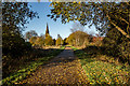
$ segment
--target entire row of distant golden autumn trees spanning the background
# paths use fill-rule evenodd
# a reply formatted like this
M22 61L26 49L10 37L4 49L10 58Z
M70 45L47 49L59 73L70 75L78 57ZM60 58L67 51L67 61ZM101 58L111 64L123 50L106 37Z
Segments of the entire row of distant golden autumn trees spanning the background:
M49 34L49 30L48 33L41 35L38 35L35 30L27 31L25 33L25 40L28 41L32 46L41 48L44 46L60 46L66 44L84 47L90 43L101 45L103 37L100 37L99 34L96 34L96 37L93 37L92 34L88 34L83 30L84 27L82 25L80 25L79 23L75 23L73 25L73 28L70 28L72 33L68 35L68 38L65 38L64 40L60 34L57 34L56 40L52 39L52 37Z

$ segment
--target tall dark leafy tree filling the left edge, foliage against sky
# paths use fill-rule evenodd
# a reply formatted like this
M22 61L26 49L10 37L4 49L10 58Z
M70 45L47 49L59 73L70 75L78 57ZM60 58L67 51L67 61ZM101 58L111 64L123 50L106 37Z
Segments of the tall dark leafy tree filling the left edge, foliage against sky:
M22 54L26 43L22 31L30 19L38 17L27 2L2 2L2 48L3 54Z

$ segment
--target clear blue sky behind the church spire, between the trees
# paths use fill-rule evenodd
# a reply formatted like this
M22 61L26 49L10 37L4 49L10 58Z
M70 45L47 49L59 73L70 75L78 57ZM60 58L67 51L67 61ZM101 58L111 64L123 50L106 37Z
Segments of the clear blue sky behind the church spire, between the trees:
M56 39L57 34L65 39L72 33L70 28L74 24L73 22L68 24L62 24L61 19L54 22L50 17L47 17L47 15L51 13L51 6L49 6L50 2L29 2L29 4L32 6L31 9L38 13L39 18L34 18L32 20L30 20L23 34L30 30L35 30L39 35L41 33L44 34L47 23L49 25L50 35L52 35L53 39ZM88 33L98 33L93 26L91 27L91 29L86 26L86 31Z

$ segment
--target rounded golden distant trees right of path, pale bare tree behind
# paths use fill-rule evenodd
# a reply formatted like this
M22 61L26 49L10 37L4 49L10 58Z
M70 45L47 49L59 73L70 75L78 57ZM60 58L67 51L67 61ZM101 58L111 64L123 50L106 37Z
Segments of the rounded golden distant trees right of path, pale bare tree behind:
M93 34L90 34L84 31L84 27L79 24L75 23L73 25L73 28L70 28L72 33L66 39L66 43L74 46L88 46L89 44L95 44L100 46L102 44L103 37L100 37L96 34L95 37Z

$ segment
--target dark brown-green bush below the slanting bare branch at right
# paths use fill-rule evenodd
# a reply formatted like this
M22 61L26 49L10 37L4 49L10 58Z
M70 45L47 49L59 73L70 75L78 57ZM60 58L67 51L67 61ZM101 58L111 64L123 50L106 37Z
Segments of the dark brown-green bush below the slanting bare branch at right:
M118 58L121 62L130 61L130 42L117 29L110 29L103 40L107 55Z

